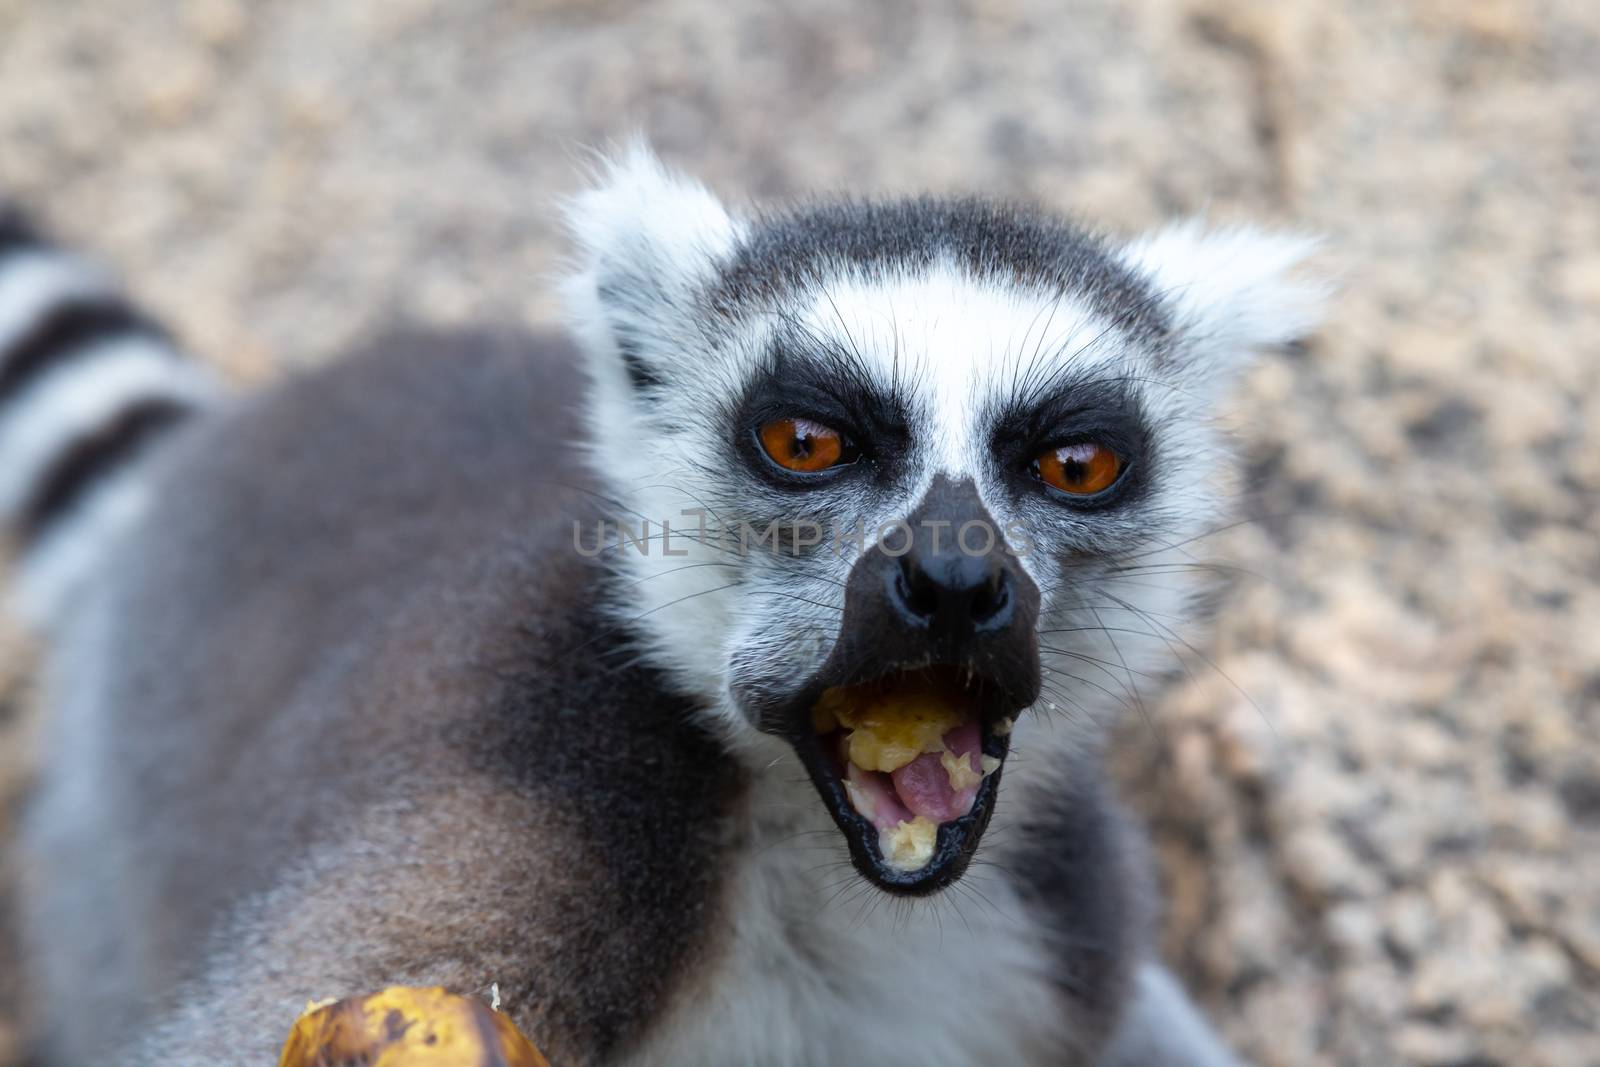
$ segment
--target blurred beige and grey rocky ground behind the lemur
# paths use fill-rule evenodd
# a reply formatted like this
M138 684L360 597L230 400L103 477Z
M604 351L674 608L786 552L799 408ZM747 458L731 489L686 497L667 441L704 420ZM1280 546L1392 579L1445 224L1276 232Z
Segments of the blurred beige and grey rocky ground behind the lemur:
M1600 6L0 0L0 189L250 381L549 318L573 146L635 125L734 195L1328 234L1123 744L1168 950L1264 1065L1600 1064Z

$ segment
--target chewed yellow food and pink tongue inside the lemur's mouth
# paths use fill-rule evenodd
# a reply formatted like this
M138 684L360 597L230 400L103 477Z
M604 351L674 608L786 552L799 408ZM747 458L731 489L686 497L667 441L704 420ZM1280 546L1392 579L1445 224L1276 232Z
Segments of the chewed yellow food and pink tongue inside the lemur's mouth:
M877 830L883 862L917 872L939 827L968 816L1000 758L950 672L914 672L824 689L811 707L824 758L856 814Z

